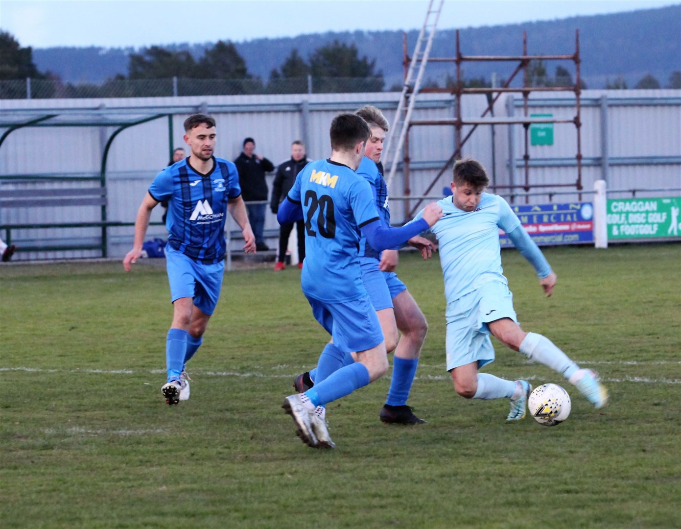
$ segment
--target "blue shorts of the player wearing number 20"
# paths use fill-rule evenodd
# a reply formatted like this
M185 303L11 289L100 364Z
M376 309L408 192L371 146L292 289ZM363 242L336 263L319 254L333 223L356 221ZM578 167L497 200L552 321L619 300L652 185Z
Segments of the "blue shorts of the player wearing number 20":
M321 327L343 352L361 352L383 342L383 331L368 296L343 303L328 303L307 297Z

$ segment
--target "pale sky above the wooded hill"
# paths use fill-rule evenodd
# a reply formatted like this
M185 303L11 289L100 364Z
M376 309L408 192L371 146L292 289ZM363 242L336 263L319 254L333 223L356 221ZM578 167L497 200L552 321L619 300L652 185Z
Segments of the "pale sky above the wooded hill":
M439 0L434 1L437 5ZM681 0L445 0L438 29L633 11ZM421 29L428 0L0 0L21 46L151 46Z

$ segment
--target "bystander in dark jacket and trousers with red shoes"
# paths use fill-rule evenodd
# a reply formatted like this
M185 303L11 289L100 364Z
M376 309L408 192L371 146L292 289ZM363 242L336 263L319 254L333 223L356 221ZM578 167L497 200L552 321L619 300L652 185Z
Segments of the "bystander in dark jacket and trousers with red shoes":
M293 187L298 173L308 162L310 160L305 155L305 144L300 140L291 143L291 160L287 160L279 165L279 168L276 170L276 177L274 177L274 183L272 184L270 209L274 215L279 211L279 204L286 198L291 187ZM296 231L298 232L298 268L302 269L302 260L305 258L305 223L299 220L298 222L282 224L279 227L279 257L274 265L274 271L278 272L286 268L286 249L289 245L289 237L294 224L296 224Z

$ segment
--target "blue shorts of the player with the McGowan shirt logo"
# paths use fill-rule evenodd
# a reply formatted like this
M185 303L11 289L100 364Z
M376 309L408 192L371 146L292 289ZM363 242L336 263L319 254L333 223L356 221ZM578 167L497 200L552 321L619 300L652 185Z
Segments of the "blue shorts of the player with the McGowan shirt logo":
M225 275L224 261L203 264L167 245L165 269L168 271L171 302L182 297L191 297L194 305L204 314L210 316L215 312Z

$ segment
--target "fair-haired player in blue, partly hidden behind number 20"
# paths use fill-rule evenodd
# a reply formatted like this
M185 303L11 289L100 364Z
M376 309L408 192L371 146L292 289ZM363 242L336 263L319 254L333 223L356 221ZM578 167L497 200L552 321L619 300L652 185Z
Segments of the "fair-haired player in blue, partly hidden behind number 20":
M376 209L381 215L381 222L390 226L387 185L383 179L383 166L380 161L389 123L381 110L372 105L363 106L355 114L364 119L371 130L364 157L356 172L369 183L374 194ZM423 237L415 239L426 250L424 258L430 257L434 245ZM397 249L377 252L366 241L366 237L362 237L359 255L362 282L381 322L385 349L387 352L394 351L390 389L379 417L383 423L387 424L425 423L426 421L416 417L412 408L407 406L407 399L416 374L421 348L428 332L426 317L407 290L407 286L394 273L398 262ZM402 333L401 337L398 330ZM330 344L330 346L333 345ZM345 357L345 363L353 362L354 359L350 355ZM316 369L298 375L294 380L294 387L303 393L314 386L316 376Z

